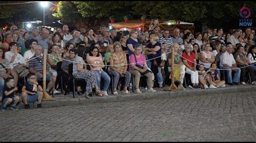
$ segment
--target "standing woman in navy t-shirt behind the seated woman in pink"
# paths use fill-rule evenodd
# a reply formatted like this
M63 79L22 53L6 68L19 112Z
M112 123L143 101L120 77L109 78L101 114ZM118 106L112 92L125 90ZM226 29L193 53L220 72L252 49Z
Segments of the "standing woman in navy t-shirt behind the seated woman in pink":
M141 44L140 40L138 39L138 34L138 30L131 30L130 37L126 41L129 56L134 53L135 46L137 44Z

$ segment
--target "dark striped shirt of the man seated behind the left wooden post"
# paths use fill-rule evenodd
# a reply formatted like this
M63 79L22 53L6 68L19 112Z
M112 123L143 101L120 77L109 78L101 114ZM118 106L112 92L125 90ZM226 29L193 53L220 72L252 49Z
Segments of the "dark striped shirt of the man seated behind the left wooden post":
M37 57L37 55L35 54L34 56L32 56L29 59L29 69L35 69L36 71L38 71L39 73L43 74L44 71L44 58L43 56ZM49 67L48 63L46 64L46 67Z

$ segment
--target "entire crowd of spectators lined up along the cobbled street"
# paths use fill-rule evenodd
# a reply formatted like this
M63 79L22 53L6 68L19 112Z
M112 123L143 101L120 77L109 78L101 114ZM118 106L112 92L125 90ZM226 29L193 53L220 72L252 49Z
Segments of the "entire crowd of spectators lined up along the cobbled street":
M70 32L68 25L57 27L54 32L46 27L32 31L15 25L5 28L0 34L1 110L11 104L11 109L17 110L16 104L21 100L25 109L35 101L42 108L43 89L39 81L43 78L44 56L48 61L46 92L49 95L59 93L58 85L64 87L64 95L69 94L70 72L74 78L83 80L76 90L86 98L90 98L92 89L99 97L107 96L111 77L114 95L130 94L131 84L137 94L142 93L142 88L147 92L163 90L164 85L170 85L171 72L180 89L246 85L246 72L250 73L250 84L256 84L256 38L250 27L245 32L237 29L232 33L208 27L207 32L195 34L188 29L181 32L174 28L173 35L169 30L160 31L158 19L152 19L149 27L142 32L118 31L101 25L97 33L93 28L86 32L84 27ZM170 53L172 48L174 57ZM48 49L47 55L42 54L44 49ZM190 79L184 80L186 74ZM16 92L18 81L24 77L20 99ZM188 83L187 87L184 82Z

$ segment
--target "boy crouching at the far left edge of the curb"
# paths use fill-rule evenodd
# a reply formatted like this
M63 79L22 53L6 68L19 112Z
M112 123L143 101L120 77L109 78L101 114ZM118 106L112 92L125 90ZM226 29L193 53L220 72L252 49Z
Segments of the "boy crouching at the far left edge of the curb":
M5 79L5 87L3 89L2 107L1 110L5 111L7 105L12 104L11 110L18 110L17 103L19 102L19 96L15 95L15 91L18 88L14 87L14 78L8 77Z

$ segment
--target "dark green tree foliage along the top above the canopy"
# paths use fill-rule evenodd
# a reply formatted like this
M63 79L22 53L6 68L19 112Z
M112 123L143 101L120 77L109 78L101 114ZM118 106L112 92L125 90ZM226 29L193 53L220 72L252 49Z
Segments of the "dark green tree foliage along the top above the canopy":
M186 22L197 21L210 25L214 24L214 21L219 21L219 19L223 20L223 22L229 22L234 18L239 18L239 10L244 5L251 9L254 17L254 11L256 11L256 3L247 1L72 1L72 3L77 5L76 8L83 17L109 18L112 15L115 17L130 15L130 17L139 19L138 17L142 14L147 14L151 15L152 18L179 19Z

